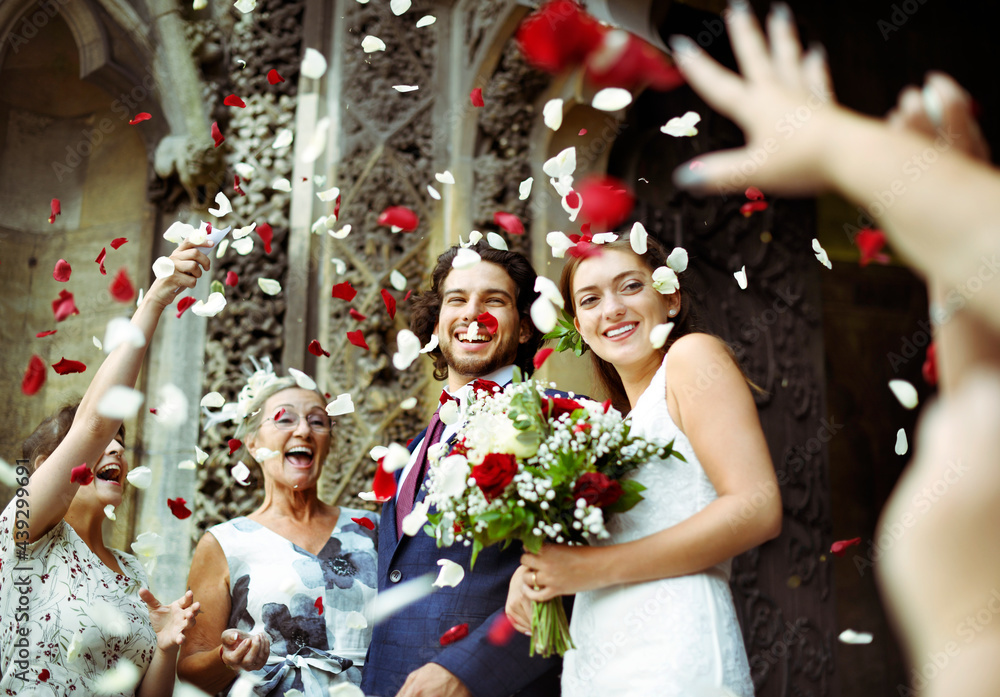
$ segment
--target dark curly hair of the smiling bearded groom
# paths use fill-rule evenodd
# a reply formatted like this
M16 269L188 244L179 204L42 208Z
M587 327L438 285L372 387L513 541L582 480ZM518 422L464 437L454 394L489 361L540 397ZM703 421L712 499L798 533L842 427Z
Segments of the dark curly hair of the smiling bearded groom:
M438 318L441 314L441 286L444 280L451 273L452 261L458 254L460 247L455 246L448 249L438 257L437 265L431 272L431 287L429 290L420 293L413 299L412 314L410 315L410 331L419 337L421 343L426 344L431 340L431 335L437 327ZM474 252L479 254L483 261L503 267L514 282L516 291L517 312L522 319L526 319L531 326L531 338L518 346L517 357L514 364L521 369L525 375L531 375L535 370L533 359L542 345L542 333L538 331L531 321L531 303L538 298L535 292L535 279L538 274L532 268L531 263L523 254L510 252L502 249L494 249L488 244L480 241L472 247ZM430 352L431 360L434 361L434 379L445 380L448 377L448 362L440 349L435 348Z

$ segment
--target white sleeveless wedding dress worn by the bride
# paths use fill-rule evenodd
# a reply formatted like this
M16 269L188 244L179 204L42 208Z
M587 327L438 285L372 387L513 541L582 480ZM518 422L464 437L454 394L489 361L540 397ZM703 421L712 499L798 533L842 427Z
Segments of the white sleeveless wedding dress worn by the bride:
M667 443L687 462L654 460L632 477L643 500L608 522L631 542L690 518L717 498L691 443L667 411L665 365L632 409L632 433ZM753 683L729 590L730 560L703 573L578 593L563 663L564 697L753 697ZM728 690L728 692L727 692Z

